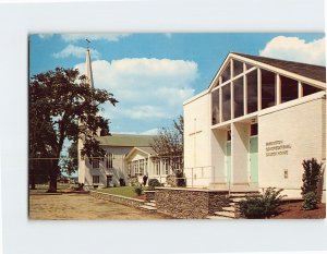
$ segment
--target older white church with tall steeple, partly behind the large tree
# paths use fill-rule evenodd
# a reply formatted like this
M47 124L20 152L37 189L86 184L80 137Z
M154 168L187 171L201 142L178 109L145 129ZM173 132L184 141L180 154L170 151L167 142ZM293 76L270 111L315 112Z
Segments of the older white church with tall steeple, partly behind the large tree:
M85 75L90 87L94 87L92 61L89 49L86 50ZM81 123L83 124L83 123ZM111 188L130 184L131 178L143 182L143 177L158 179L166 182L168 174L172 173L170 165L165 158L159 158L152 148L155 135L112 134L100 135L98 130L96 140L106 150L104 158L93 158L92 161L78 154L78 183L86 190L97 188ZM78 152L84 142L78 140Z

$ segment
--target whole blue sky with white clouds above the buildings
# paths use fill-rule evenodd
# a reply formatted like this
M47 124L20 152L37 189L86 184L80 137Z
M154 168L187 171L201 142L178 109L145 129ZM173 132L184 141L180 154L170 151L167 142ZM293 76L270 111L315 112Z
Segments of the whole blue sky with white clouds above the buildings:
M322 33L34 34L29 76L57 66L84 74L85 38L92 41L94 86L119 100L101 106L111 133L156 134L171 125L229 52L326 65Z

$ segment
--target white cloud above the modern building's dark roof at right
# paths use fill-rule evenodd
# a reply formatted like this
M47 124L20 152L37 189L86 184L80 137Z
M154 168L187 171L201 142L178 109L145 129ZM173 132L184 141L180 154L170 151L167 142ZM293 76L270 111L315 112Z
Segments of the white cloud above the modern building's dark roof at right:
M263 57L326 65L325 37L322 39L305 41L298 37L278 36L267 43L259 51Z

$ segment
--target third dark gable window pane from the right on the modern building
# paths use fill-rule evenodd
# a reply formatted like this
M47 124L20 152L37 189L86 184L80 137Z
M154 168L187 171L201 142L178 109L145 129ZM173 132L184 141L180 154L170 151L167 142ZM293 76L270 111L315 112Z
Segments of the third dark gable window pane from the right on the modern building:
M262 70L262 108L275 106L275 73Z

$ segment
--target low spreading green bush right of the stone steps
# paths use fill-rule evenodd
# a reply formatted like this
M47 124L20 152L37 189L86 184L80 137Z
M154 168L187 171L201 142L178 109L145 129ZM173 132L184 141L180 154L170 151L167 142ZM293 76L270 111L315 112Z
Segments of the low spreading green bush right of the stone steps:
M241 215L249 219L263 219L279 214L281 198L286 196L280 195L281 192L268 188L263 194L247 195L245 201L240 202Z

